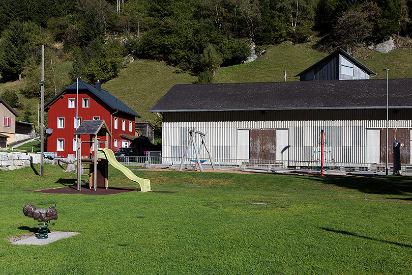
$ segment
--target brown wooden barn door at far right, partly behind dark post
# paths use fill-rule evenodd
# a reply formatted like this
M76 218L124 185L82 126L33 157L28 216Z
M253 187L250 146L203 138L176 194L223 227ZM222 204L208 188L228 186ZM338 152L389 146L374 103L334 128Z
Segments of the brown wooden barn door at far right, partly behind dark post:
M388 129L388 162L393 163L393 137L404 146L400 148L401 164L410 164L410 130ZM403 139L403 140L401 140ZM386 163L386 129L380 130L380 163Z

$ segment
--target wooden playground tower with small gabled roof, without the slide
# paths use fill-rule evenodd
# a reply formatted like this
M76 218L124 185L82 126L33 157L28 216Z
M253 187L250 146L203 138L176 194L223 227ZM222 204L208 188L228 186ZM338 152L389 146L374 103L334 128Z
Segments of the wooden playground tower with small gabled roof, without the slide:
M106 159L99 159L99 144L104 143L105 148L109 148L108 141L111 133L104 120L86 120L74 132L77 138L77 190L81 191L81 166L82 164L89 165L89 187L96 190L97 186L108 187L108 161ZM89 141L81 141L80 135L89 135ZM98 136L106 136L105 142L99 142ZM81 155L81 144L86 143L90 145L89 155ZM94 148L94 150L93 150Z

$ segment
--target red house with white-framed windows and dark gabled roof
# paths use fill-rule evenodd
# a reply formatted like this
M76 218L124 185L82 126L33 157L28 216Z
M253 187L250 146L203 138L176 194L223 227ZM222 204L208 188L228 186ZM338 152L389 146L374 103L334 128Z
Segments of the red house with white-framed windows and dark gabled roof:
M78 85L74 82L53 97L44 105L44 110L48 119L47 151L57 152L62 157L76 153L73 133L82 121L104 120L112 134L109 148L116 151L120 147L129 147L133 141L135 118L140 117L125 103L101 89L100 82L93 86L81 80ZM106 136L101 136L100 141L106 141ZM89 154L89 145L82 145L81 154Z

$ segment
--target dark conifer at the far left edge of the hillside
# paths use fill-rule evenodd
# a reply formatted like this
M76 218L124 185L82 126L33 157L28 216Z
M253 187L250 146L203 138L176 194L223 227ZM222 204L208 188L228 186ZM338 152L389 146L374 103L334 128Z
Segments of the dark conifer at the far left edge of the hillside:
M28 37L21 22L13 21L2 33L0 41L0 72L3 78L21 81L27 58Z

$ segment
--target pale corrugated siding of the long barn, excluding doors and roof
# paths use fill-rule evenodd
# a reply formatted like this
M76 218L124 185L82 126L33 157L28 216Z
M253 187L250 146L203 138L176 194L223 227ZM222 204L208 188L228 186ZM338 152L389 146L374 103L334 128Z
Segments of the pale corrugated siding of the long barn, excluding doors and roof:
M206 141L217 161L237 159L237 129L289 129L289 160L309 161L324 130L337 162L366 162L366 129L386 127L386 110L349 109L268 112L193 112L163 114L163 156L182 157L189 129L207 132ZM390 113L389 128L412 128L410 110ZM200 139L196 140L200 145ZM205 157L201 148L201 157ZM189 152L194 157L194 151Z

